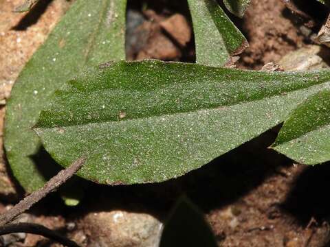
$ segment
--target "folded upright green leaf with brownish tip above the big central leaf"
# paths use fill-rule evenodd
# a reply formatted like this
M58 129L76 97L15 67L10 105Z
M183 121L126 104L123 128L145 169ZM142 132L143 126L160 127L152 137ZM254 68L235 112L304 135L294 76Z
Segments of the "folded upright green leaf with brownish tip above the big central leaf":
M196 62L221 67L248 41L214 0L188 0L195 34Z

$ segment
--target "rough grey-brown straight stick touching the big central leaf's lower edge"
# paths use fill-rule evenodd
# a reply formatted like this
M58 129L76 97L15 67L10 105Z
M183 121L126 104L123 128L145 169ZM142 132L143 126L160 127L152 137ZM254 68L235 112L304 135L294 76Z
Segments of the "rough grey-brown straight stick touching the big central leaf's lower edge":
M78 160L67 167L67 169L63 169L61 172L58 172L56 176L52 177L41 189L34 191L14 207L5 211L5 213L0 215L0 226L12 222L17 216L21 215L21 213L30 209L34 203L39 202L39 200L47 196L48 193L55 191L78 172L78 169L80 169L84 163L85 158L78 158Z

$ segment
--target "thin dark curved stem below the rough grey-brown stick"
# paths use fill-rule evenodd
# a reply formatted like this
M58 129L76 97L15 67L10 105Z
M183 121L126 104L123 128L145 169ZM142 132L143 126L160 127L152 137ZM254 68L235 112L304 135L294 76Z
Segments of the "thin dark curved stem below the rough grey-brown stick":
M63 237L62 235L52 231L45 226L33 223L17 223L17 224L5 224L0 226L0 235L5 235L9 233L32 233L36 235L41 235L52 239L60 244L63 244L67 247L79 247L76 242Z

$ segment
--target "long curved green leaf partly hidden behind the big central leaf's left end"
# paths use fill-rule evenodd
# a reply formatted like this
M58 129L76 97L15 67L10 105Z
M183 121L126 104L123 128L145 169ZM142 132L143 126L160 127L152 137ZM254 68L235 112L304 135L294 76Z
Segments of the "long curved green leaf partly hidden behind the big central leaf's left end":
M41 142L32 131L41 109L79 71L125 58L125 12L123 0L76 1L15 82L6 109L5 149L26 191L45 183L35 163Z

